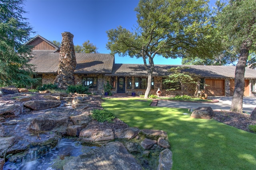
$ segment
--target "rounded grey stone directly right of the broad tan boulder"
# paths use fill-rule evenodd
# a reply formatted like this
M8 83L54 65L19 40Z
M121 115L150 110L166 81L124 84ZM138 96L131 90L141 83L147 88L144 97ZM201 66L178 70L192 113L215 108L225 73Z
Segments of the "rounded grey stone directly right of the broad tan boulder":
M120 138L120 139L133 139L135 138L138 133L139 133L140 129L138 129L137 127L128 127L126 129L117 129L116 131L114 131L114 137L115 138Z

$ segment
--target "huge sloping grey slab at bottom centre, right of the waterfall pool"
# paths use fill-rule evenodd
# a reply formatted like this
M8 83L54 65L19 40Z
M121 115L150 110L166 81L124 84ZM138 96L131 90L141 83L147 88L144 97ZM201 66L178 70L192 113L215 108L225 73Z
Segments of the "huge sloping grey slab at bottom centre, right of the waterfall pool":
M120 142L110 142L105 146L84 153L69 162L63 170L142 170L142 166Z

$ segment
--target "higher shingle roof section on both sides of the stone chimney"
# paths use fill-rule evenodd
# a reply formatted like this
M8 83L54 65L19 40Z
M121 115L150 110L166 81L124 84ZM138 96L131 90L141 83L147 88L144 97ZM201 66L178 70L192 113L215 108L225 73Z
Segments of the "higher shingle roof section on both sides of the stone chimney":
M32 60L36 73L56 73L59 65L59 52L33 50ZM110 54L76 53L76 74L111 74L114 56Z

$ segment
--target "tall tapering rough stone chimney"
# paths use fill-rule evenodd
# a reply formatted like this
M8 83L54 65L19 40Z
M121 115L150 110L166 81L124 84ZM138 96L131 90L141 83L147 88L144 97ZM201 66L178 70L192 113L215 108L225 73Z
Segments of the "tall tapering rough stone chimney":
M73 37L70 32L62 34L62 41L60 45L60 59L58 75L54 82L59 88L66 89L68 85L74 85L73 72L76 68L76 55L74 50Z

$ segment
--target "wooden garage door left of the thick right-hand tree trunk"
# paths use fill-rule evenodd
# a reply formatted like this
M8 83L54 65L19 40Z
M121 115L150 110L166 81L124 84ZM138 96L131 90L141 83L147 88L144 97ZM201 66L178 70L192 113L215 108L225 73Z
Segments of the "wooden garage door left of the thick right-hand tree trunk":
M214 80L205 79L205 92L208 96L224 96L225 81L224 80Z

